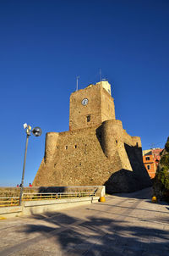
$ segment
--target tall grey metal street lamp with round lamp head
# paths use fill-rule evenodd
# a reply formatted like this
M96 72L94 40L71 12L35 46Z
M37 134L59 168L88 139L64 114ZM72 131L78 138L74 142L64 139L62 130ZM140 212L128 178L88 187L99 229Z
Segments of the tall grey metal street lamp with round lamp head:
M27 154L27 147L28 147L28 139L31 133L34 136L41 136L41 128L40 127L35 127L31 130L31 126L27 125L26 123L24 124L24 129L26 131L26 146L25 146L25 158L24 158L24 166L23 166L23 172L22 172L22 181L20 184L20 196L19 196L19 205L22 204L22 192L23 192L23 186L24 186L24 176L25 176L25 163L26 163L26 154Z

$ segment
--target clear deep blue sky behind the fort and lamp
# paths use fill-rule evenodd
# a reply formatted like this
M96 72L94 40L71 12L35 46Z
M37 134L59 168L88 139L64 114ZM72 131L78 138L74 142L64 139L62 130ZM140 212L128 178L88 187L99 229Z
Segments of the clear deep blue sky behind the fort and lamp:
M69 96L99 81L112 84L118 120L143 149L169 136L168 0L0 2L0 186L25 185L41 164L48 131L68 131Z

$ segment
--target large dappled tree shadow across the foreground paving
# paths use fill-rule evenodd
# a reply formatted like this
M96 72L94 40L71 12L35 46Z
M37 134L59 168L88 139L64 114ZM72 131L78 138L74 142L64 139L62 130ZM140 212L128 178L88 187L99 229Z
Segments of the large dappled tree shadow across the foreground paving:
M122 256L129 253L135 256L148 255L146 253L152 250L154 254L150 255L169 255L167 231L143 227L137 222L128 225L125 220L113 219L111 215L103 218L98 213L98 216L80 219L63 213L47 213L37 214L34 219L43 220L44 225L26 225L25 231L41 231L43 237L38 242L42 242L44 236L52 237L52 241L54 238L62 248L61 255Z

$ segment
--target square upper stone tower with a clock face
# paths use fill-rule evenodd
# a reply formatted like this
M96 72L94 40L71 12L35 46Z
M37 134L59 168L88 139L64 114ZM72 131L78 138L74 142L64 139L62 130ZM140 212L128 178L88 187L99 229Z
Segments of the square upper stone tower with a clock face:
M71 94L70 131L101 125L105 120L115 120L114 100L108 81L100 81Z

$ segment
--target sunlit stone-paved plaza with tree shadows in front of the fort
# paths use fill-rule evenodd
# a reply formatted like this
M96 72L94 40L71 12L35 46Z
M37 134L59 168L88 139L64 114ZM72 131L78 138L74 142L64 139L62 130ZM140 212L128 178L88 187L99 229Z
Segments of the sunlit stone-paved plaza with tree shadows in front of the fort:
M0 255L169 256L169 205L146 188L55 213L0 220Z

